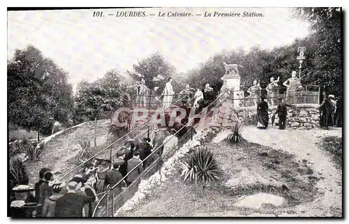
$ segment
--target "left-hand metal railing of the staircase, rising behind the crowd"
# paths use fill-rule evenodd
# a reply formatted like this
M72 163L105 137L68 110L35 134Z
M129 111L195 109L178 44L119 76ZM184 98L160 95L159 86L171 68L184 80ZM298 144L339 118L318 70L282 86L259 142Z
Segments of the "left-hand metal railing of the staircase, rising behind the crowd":
M173 107L174 105L176 105L177 103L179 103L181 100L183 100L184 98L186 98L186 96L179 98L179 100L177 100L176 102L172 103L172 105L170 105L169 107L166 107L164 110L168 110L168 108ZM129 135L131 135L131 133L134 133L135 131L140 131L140 133L135 137L135 140L140 139L141 137L143 137L144 135L148 135L149 136L149 131L150 131L150 126L149 123L157 117L158 114L155 114L153 117L151 117L150 119L148 119L147 121L145 121L143 124L141 124L140 126L133 128L133 130L131 130L129 133L126 133L126 135L120 137L118 140L112 142L110 145L108 145L107 147L105 147L104 149L102 149L101 151L99 151L97 154L95 154L94 156L91 156L91 158L87 159L86 161L84 161L83 163L80 163L80 165L77 165L76 167L73 168L73 170L70 170L69 172L67 172L66 174L64 174L63 177L61 177L59 180L60 181L68 181L68 179L71 179L71 177L73 177L73 175L79 173L83 168L84 165L86 165L87 163L89 163L89 161L93 160L94 158L96 158L97 156L101 156L102 154L107 153L107 150L109 150L109 154L110 154L110 160L112 160L112 151L113 151L113 146L119 142L121 142L121 140L125 140L126 137L128 137ZM148 124L148 127L146 126ZM140 128L147 128L147 130L145 130L144 132L142 132L142 130Z

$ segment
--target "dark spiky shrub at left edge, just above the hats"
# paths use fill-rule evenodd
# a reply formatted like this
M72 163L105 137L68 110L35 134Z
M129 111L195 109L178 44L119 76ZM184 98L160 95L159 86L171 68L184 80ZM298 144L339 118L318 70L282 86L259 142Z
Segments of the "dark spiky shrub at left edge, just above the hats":
M29 177L20 158L10 161L10 189L17 185L28 185Z

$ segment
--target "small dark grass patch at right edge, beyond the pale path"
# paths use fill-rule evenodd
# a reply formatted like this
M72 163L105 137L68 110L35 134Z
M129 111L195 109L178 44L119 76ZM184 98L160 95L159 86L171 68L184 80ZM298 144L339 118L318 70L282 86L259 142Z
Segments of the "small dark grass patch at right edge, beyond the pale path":
M343 164L343 140L337 136L323 137L320 142L320 149L327 151L337 169L342 170Z

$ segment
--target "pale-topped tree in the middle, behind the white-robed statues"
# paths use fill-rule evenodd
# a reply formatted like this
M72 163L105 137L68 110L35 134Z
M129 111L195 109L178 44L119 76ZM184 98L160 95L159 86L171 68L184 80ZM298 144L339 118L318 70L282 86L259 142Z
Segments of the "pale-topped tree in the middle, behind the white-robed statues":
M128 71L128 74L137 81L144 78L145 84L151 90L154 90L154 87L163 89L168 77L175 73L174 66L168 63L159 52L138 61L138 64L133 65L133 70Z

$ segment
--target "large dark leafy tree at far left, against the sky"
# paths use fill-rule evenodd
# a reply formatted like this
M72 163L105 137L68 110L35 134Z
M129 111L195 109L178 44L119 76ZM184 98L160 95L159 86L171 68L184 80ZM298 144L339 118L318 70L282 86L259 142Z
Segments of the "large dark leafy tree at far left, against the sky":
M50 133L53 121L68 121L72 87L68 73L28 45L8 61L8 119L17 126Z

